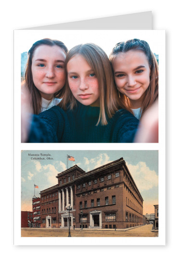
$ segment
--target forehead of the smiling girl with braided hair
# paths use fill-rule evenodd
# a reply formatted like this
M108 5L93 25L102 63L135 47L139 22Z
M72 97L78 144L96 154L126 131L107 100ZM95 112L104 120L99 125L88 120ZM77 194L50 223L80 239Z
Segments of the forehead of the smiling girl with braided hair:
M128 64L139 64L139 65L148 65L148 60L144 52L140 50L129 50L126 53L118 53L116 54L113 66L120 64L120 65L126 65Z

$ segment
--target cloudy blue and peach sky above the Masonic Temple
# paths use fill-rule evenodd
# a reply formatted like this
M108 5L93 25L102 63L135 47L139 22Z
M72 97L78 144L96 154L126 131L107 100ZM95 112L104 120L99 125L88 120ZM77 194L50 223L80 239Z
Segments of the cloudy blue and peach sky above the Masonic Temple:
M66 155L73 156L75 162L68 161L68 168L77 164L88 172L121 157L125 160L129 171L142 194L143 214L154 213L154 204L158 204L158 151L157 150L23 150L21 169L22 211L32 211L34 184L35 195L57 184L56 175L67 169ZM34 158L28 154L45 154Z

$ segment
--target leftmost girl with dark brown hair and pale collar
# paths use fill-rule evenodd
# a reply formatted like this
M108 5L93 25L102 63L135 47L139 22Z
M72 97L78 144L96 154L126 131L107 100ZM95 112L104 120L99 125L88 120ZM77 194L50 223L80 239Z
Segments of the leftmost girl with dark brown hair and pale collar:
M36 41L28 51L25 86L34 114L39 114L60 102L65 85L65 44L45 38Z

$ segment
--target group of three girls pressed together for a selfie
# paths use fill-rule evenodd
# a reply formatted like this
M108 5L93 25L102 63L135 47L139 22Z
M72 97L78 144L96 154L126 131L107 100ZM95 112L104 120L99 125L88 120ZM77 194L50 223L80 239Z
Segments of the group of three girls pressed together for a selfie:
M28 114L27 114L28 113ZM30 115L29 115L30 113ZM22 142L158 142L158 63L140 39L36 41L22 83Z

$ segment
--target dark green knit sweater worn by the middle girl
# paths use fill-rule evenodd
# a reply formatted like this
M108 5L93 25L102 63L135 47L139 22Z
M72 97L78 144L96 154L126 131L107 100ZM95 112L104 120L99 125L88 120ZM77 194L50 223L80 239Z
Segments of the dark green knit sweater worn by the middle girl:
M139 120L120 109L107 125L96 123L99 107L84 106L64 111L58 106L33 116L28 142L133 142Z

